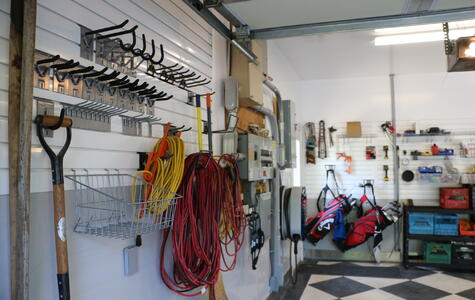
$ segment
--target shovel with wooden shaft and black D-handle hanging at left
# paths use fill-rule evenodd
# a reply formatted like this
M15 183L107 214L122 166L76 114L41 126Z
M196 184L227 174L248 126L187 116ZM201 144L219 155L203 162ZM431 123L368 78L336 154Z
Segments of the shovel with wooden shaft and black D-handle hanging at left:
M58 280L58 291L60 300L71 298L69 290L69 268L68 268L68 244L66 242L66 207L64 203L64 177L63 177L63 157L71 143L71 119L64 118L64 109L61 110L60 117L41 116L35 119L36 133L41 146L51 161L51 172L53 179L53 203L54 203L54 224L56 226L56 269ZM43 130L56 130L60 127L66 128L66 142L58 154L48 146L45 141Z

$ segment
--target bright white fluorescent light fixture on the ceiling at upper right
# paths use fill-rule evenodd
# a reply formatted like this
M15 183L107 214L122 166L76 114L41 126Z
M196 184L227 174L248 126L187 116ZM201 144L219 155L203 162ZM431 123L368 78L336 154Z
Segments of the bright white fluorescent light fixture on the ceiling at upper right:
M450 22L450 39L475 35L475 20ZM376 46L437 42L444 40L442 24L375 29ZM475 50L474 50L475 51Z

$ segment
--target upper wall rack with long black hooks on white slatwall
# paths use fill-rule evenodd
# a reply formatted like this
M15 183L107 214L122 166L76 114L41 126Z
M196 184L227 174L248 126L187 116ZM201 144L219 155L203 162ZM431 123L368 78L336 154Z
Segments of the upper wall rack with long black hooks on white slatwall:
M155 40L147 39L145 34L138 38L136 32L138 26L125 29L128 22L129 20L125 20L115 26L91 31L82 29L82 57L90 59L92 53L95 53L98 64L114 64L120 68L140 71L188 92L196 93L193 91L195 88L205 87L211 83L209 78L197 74L183 64L165 65L163 45L160 44L157 50ZM130 42L126 43L125 39ZM141 42L138 42L138 39L141 39Z

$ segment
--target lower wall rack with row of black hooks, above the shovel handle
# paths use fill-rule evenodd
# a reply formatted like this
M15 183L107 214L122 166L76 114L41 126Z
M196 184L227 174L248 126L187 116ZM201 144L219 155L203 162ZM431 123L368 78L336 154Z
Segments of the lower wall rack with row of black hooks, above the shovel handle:
M107 67L97 71L59 55L40 51L35 55L35 98L62 103L75 128L108 132L111 117L121 116L124 134L142 135L141 124L147 123L151 136L152 125L160 121L154 103L173 97L127 75L119 78L117 71L106 73Z

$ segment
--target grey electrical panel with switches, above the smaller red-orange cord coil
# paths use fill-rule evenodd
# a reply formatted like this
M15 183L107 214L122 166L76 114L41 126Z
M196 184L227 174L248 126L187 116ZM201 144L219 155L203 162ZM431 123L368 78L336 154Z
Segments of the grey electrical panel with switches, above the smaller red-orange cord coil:
M240 134L238 152L244 154L244 158L238 161L241 179L256 181L273 177L274 148L270 138Z

